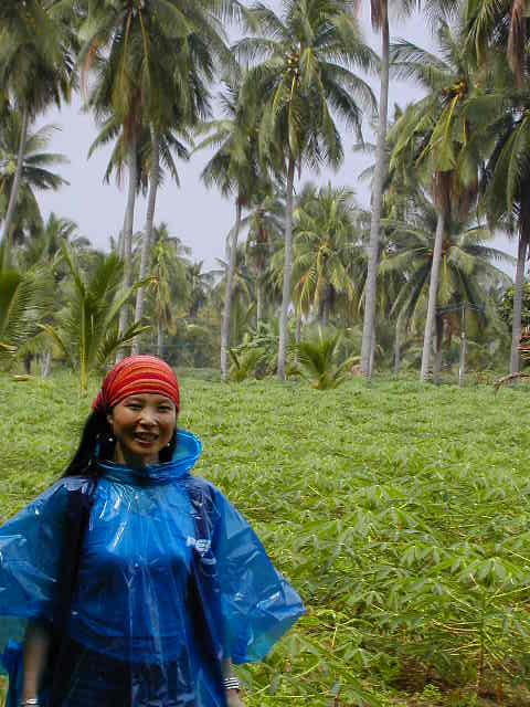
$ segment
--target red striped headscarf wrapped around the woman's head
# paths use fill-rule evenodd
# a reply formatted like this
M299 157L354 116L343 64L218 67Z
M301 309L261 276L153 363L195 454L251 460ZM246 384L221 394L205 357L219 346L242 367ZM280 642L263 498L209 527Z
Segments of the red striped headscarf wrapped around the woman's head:
M139 393L166 395L179 409L177 377L168 363L156 356L129 356L116 363L106 374L92 409L105 413L128 395Z

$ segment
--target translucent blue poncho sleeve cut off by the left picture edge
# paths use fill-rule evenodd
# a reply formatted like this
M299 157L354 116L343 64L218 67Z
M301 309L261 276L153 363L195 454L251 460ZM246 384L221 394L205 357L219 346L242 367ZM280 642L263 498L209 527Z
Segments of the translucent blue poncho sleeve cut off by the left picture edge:
M0 527L0 671L29 620L53 621L68 490L78 485L57 482Z

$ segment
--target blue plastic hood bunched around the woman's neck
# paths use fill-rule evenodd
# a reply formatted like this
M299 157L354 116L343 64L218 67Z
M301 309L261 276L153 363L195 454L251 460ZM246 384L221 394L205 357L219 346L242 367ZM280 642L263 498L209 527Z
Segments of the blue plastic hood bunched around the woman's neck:
M202 453L198 437L186 430L177 431L177 445L170 462L152 464L144 468L131 468L114 462L99 462L108 481L128 486L157 486L170 484L189 476Z

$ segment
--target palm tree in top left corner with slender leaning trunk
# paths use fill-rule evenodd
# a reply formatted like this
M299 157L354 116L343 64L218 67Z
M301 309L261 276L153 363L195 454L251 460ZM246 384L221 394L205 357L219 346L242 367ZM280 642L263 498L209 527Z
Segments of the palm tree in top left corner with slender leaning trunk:
M4 0L0 7L0 86L20 114L17 162L3 222L8 257L29 126L51 103L60 106L70 97L75 78L72 29L54 4Z

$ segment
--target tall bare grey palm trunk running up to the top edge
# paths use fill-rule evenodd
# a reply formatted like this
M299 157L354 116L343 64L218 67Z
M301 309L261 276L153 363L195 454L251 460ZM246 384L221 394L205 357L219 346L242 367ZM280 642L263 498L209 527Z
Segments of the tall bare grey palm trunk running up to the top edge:
M372 350L375 346L375 299L378 291L378 261L381 225L381 204L386 172L386 120L389 110L389 64L390 30L386 2L382 3L381 20L381 93L379 98L379 128L375 145L375 172L372 191L372 219L370 222L369 258L367 274L367 299L362 325L361 371L365 378L372 377Z

